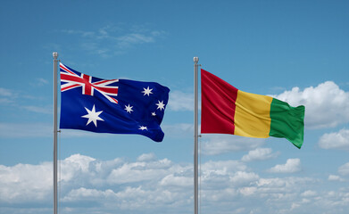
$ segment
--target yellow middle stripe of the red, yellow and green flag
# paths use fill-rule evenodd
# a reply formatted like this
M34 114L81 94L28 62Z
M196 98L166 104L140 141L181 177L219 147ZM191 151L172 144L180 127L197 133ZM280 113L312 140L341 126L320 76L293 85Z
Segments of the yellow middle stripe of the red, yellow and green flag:
M237 91L235 132L237 136L269 137L272 97Z

